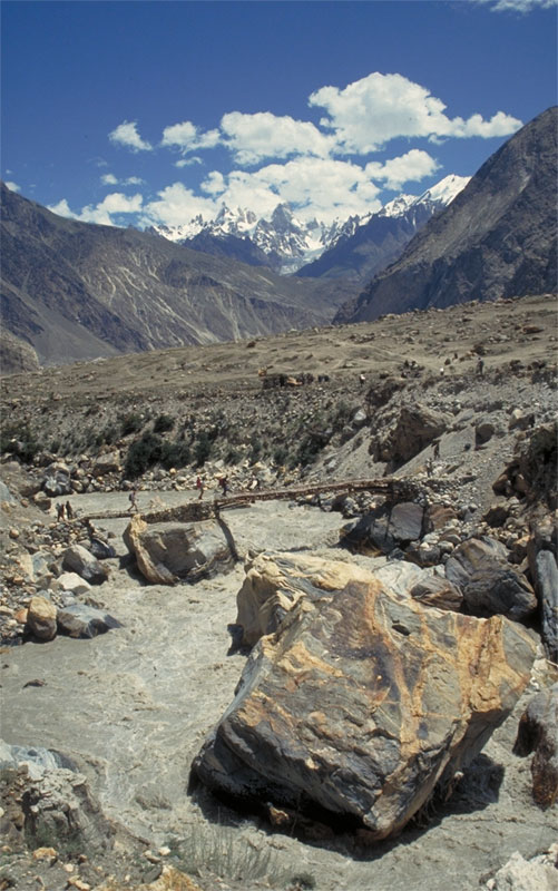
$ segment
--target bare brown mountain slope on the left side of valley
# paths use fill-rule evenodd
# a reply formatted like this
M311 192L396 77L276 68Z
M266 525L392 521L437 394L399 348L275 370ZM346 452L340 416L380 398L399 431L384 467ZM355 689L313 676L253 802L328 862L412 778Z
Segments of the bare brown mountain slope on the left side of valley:
M323 324L350 291L65 219L2 185L3 326L56 364Z

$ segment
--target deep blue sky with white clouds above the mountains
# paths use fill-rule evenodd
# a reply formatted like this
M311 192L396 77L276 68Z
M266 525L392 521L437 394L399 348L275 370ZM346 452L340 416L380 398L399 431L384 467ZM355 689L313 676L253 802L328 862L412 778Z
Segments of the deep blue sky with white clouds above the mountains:
M3 0L1 175L67 216L326 222L470 176L557 101L556 0Z

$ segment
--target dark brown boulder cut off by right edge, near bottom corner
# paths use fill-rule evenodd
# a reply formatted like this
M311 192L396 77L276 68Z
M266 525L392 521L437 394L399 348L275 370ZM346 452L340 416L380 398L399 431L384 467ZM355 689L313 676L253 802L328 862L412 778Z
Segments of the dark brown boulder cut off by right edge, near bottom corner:
M535 752L532 797L547 809L558 801L558 684L530 699L519 722L516 755Z

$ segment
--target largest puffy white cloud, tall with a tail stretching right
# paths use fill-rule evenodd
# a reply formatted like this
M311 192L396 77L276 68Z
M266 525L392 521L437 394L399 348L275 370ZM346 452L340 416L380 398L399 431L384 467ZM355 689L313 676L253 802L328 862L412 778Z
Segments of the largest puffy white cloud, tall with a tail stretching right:
M366 154L376 151L397 137L508 136L521 126L517 118L498 111L489 121L480 115L468 120L449 118L441 99L425 87L402 75L375 71L345 89L322 87L309 99L325 108L329 117L320 121L335 134L339 150Z

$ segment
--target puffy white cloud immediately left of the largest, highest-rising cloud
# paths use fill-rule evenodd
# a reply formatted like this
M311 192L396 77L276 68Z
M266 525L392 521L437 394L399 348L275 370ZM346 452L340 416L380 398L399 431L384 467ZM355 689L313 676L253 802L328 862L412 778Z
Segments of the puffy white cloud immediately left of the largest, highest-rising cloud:
M270 111L224 115L221 127L226 145L238 164L257 164L263 158L286 158L291 155L327 157L334 140L310 121L277 117Z

